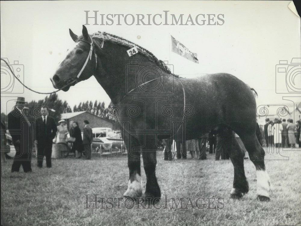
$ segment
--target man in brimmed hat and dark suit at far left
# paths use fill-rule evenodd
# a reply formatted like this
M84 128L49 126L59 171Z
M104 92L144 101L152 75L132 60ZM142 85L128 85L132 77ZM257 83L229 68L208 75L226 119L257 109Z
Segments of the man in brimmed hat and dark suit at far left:
M11 172L19 172L21 165L24 172L32 172L29 153L33 145L30 131L34 125L24 114L24 104L26 104L25 98L18 97L16 105L7 116L8 130L16 149Z

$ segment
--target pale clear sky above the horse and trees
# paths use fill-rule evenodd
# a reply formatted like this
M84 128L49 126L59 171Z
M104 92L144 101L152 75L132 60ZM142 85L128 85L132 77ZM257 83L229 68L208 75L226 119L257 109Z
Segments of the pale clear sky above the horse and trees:
M286 90L285 75L276 68L293 67L292 58L300 58L300 18L287 5L290 1L1 1L1 57L8 58L25 85L40 92L54 88L50 77L58 62L73 45L69 28L80 34L86 23L84 11L98 14L223 14L224 24L209 25L86 25L88 32L106 31L147 48L157 58L174 66L174 73L194 77L205 73L225 72L238 77L258 93L257 105L284 103L284 96L297 96ZM169 17L170 19L170 17ZM92 20L89 20L92 21ZM93 20L94 21L94 20ZM100 17L98 17L100 23ZM170 51L170 35L197 53L199 63ZM138 36L141 38L138 39ZM2 63L2 62L1 62ZM296 65L295 65L296 66ZM8 113L17 96L26 101L46 95L24 90L1 67L1 112ZM296 86L301 75L296 75ZM278 82L277 82L278 81ZM279 85L276 93L276 82ZM300 82L301 84L301 82ZM299 86L300 88L300 86ZM80 82L58 97L71 108L82 101L110 99L94 77ZM296 99L296 98L295 98ZM301 98L300 98L301 99Z

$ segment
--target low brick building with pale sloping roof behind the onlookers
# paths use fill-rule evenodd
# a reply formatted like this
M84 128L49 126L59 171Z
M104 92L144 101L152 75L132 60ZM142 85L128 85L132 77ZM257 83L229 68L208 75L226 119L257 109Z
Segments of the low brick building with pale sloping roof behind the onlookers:
M89 113L87 111L78 111L78 112L71 112L71 113L63 113L61 114L61 119L64 119L68 124L69 129L69 122L70 121L76 121L79 124L79 128L81 131L84 128L84 120L88 120L90 122L90 127L107 127L114 129L114 123L110 122L107 119L98 117L96 115L93 115L92 113Z

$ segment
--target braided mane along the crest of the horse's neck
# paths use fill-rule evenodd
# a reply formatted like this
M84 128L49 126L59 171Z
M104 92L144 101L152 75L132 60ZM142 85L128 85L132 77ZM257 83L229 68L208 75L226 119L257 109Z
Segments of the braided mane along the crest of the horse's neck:
M158 60L158 58L150 51L148 51L146 48L141 47L140 45L135 44L134 42L131 42L127 39L124 39L122 37L107 33L107 32L96 32L92 34L92 38L101 39L105 41L109 41L111 43L126 46L128 48L133 48L134 46L137 48L138 52L142 54L143 56L149 58L151 62L154 63L160 63L163 66L163 69L165 72L172 74L173 76L178 77L177 75L171 73L170 69L165 65L165 63L162 60Z

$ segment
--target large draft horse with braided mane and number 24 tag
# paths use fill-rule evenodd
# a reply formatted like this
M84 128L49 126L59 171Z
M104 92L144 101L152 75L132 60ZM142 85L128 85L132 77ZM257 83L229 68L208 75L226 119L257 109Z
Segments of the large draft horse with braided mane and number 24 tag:
M181 78L172 65L157 59L147 49L119 36L97 32L69 33L76 43L50 78L53 87L68 91L76 83L95 76L113 105L108 113L116 117L128 151L129 181L124 197L141 197L140 156L146 174L144 198L161 197L156 177L157 139L196 139L219 130L234 166L231 198L249 191L244 172L244 152L237 133L256 168L257 199L268 201L270 178L265 169L265 151L256 137L256 100L253 91L227 73ZM174 138L177 136L177 138Z

